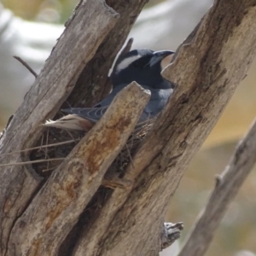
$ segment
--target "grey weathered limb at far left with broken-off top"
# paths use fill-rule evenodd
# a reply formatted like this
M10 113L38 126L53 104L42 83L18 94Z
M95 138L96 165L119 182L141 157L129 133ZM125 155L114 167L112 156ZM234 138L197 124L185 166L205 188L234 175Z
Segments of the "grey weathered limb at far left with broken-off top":
M82 2L81 2L82 3ZM27 93L0 141L0 155L29 148L38 140L45 119L61 107L102 40L117 22L119 15L103 1L85 1L79 5L73 21L61 35L42 73ZM27 160L14 154L1 158L2 163ZM9 233L16 218L26 208L41 181L30 166L0 167L0 254L4 255Z

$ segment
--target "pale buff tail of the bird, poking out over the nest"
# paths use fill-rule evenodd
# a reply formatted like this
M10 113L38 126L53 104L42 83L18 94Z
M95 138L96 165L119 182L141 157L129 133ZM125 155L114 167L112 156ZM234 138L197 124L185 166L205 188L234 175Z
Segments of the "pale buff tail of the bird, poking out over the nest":
M91 120L84 119L77 114L68 114L55 121L47 120L43 125L73 131L90 131L95 123Z

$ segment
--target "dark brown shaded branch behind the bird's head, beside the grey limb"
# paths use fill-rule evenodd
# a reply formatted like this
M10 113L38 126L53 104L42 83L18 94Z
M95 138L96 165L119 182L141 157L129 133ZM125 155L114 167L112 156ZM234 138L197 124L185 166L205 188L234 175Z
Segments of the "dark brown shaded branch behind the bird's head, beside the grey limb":
M80 74L74 90L67 99L73 107L92 106L108 95L112 87L108 80L108 71L148 0L107 0L106 3L119 13L119 21L102 41L95 56Z

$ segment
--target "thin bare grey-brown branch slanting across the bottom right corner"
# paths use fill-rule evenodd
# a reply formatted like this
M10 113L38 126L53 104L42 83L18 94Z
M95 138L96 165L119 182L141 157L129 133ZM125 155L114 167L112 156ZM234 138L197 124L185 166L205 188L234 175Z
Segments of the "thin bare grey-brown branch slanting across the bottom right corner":
M255 162L256 119L246 137L238 143L235 154L230 158L230 163L218 176L207 207L184 242L178 256L202 256L206 253L230 202L235 198Z

